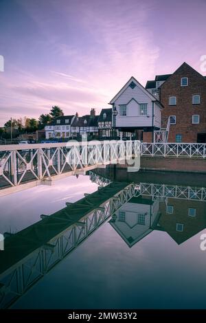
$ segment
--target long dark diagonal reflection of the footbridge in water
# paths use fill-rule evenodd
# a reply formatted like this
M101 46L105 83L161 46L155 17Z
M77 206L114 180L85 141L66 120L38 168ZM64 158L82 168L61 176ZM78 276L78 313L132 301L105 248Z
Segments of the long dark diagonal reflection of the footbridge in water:
M0 307L9 307L85 241L118 208L138 194L133 183L111 183L98 192L5 238L0 253Z

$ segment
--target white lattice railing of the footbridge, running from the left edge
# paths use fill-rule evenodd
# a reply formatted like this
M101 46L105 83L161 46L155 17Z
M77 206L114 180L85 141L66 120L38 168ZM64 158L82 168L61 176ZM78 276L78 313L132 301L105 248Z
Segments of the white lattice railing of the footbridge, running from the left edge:
M140 153L140 142L105 140L0 146L0 188L53 175L75 175ZM67 175L69 175L67 174Z

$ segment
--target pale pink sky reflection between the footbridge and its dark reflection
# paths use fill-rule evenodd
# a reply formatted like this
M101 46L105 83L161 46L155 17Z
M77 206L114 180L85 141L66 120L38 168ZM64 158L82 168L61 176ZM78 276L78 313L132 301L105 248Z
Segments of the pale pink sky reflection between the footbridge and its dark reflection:
M78 201L84 193L98 186L89 176L66 177L52 186L36 186L22 192L0 197L0 232L13 232L40 220L41 214L51 214L65 207L68 201Z

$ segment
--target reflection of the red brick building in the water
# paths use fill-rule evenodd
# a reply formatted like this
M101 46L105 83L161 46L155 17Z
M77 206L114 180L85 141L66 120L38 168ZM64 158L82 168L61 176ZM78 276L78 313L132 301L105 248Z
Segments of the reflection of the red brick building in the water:
M206 227L206 203L167 199L159 204L159 225L179 245Z

